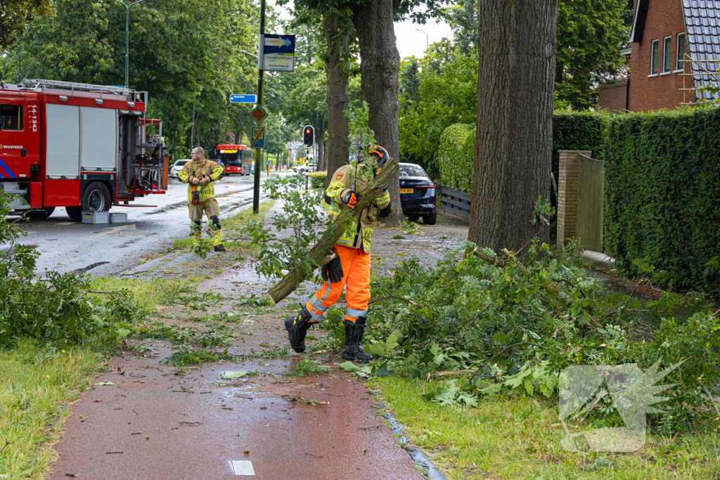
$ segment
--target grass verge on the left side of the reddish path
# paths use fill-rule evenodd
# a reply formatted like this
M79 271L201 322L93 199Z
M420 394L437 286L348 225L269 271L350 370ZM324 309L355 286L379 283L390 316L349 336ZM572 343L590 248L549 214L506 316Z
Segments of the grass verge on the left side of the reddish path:
M50 445L102 357L87 348L47 350L21 340L0 350L0 473L7 479L42 479L57 456Z

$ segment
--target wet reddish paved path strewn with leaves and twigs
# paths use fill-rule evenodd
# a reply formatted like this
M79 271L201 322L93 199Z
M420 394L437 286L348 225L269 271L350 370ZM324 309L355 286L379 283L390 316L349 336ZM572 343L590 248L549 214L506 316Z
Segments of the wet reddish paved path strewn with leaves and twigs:
M467 227L444 220L417 230L411 236L377 230L377 274L389 274L393 263L411 255L434 265L445 246L467 237ZM392 239L395 235L405 239ZM338 369L344 362L338 352L317 351L325 332L309 332L305 354L282 354L283 348L289 353L283 318L317 285L305 282L275 307L251 307L248 296L264 297L274 282L259 278L249 261L228 266L228 257L235 255L211 254L202 261L192 252L175 252L122 276L189 278L224 268L198 286L200 292L222 295L219 305L163 307L163 318L156 320L199 331L229 327L228 353L237 363L175 368L161 363L178 350L168 341L147 341L140 348L133 340L73 404L55 445L60 458L50 479L75 474L102 480L210 480L235 477L250 467L260 479L425 478L387 427L376 392ZM223 312L233 322L212 320ZM330 371L298 376L295 368L303 359L318 360ZM225 378L226 372L238 371L246 373Z

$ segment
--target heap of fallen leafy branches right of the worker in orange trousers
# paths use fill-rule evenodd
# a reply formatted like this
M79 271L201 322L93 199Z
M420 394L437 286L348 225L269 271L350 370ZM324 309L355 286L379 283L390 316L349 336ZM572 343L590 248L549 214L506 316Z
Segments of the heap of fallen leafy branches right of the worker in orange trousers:
M366 346L402 340L370 373L426 379L435 371L480 368L475 379L482 380L426 395L472 406L493 394L555 401L558 373L572 365L637 363L645 369L658 360L662 368L685 360L661 382L677 385L663 392L669 399L655 405L663 413L651 415L651 425L666 435L702 421L714 425L704 392L720 381L720 319L701 297L613 293L585 271L582 258L553 255L547 245L532 244L525 265L485 250L481 258L473 248L461 245L436 268L405 259L391 278L374 280L373 295L384 300L370 307ZM466 254L457 255L462 250ZM607 418L588 420L618 426L612 402L599 407Z

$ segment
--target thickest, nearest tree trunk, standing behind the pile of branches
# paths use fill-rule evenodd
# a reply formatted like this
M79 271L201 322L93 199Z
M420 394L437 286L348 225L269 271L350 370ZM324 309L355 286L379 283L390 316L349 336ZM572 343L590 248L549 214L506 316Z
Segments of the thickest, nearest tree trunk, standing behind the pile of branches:
M480 2L477 135L468 238L496 252L534 237L550 198L558 0ZM539 240L549 242L547 229Z

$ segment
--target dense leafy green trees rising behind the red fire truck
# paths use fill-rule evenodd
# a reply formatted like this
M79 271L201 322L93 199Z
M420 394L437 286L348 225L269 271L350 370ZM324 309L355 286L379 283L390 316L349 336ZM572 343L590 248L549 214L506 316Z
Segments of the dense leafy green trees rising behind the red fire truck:
M24 78L122 85L125 8L112 0L54 0L52 7L4 37L1 80L17 82L22 58ZM282 30L273 9L267 17L269 29ZM228 98L256 91L258 19L253 0L148 0L130 9L130 87L148 91L148 116L163 119L173 158L187 158L193 145L247 139L251 106ZM266 78L268 151L278 155L300 138L300 127L282 116L292 78Z

